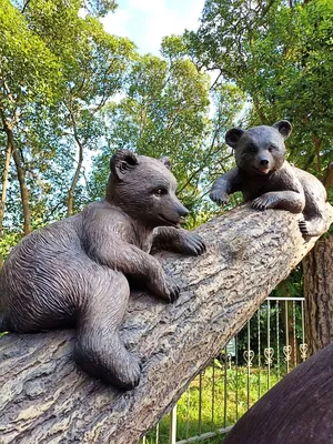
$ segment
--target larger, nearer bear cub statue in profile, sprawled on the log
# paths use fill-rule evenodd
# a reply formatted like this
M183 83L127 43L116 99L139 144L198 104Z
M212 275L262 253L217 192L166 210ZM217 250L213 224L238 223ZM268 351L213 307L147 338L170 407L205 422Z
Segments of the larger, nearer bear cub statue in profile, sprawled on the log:
M141 365L118 332L128 279L173 302L180 289L149 254L151 248L198 255L205 246L180 228L188 210L175 196L167 158L121 150L110 169L104 201L32 232L11 251L0 274L0 331L75 325L75 362L92 376L131 389Z

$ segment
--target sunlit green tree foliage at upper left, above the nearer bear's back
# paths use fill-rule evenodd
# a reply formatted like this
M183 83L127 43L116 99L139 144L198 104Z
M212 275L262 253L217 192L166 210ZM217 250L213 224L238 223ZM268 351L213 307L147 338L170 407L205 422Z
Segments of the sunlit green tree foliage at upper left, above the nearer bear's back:
M90 4L97 13L112 1L37 0L18 4L21 11L1 1L0 117L2 125L13 131L36 229L65 215L71 186L73 210L87 203L81 162L98 149L104 133L100 110L122 91L134 44L104 32L92 13L79 14L82 7ZM0 139L3 148L6 134ZM4 154L0 149L3 164ZM11 162L4 229L20 232L23 214L17 179Z

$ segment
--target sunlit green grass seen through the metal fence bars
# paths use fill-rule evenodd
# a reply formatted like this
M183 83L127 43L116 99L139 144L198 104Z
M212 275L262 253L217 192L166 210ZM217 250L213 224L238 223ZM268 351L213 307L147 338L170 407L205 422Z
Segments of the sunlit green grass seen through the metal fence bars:
M278 381L278 374L272 372L270 386L275 385ZM195 377L176 404L176 440L186 440L233 425L253 405L259 395L262 396L269 390L266 369L261 371L251 369L249 382L248 384L248 367L235 367L232 364L229 370L226 365L219 366L216 362L208 367L202 376ZM169 424L170 415L164 416L159 424L158 442L161 444L170 442ZM155 442L157 431L153 430L147 435L145 443ZM221 443L221 435L204 442Z

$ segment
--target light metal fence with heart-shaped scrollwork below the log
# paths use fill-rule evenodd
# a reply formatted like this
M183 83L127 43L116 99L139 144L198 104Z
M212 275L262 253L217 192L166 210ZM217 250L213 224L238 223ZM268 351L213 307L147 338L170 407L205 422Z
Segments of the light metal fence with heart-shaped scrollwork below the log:
M142 444L221 443L265 392L307 357L303 297L268 297Z

